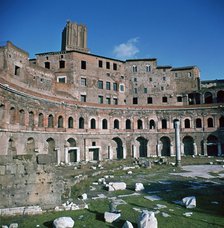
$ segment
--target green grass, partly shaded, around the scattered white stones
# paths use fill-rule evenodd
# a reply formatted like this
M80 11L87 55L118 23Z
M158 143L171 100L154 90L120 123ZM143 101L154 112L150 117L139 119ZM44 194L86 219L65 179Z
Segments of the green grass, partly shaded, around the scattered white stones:
M172 158L171 160L172 161ZM184 158L182 164L208 164L214 161L214 158ZM173 162L173 161L172 161ZM125 161L126 165L130 165ZM140 196L125 197L123 200L127 204L118 205L121 210L121 218L113 224L104 222L104 212L109 210L109 199L91 200L87 201L89 209L79 211L64 211L64 212L47 212L37 216L18 216L18 217L0 217L0 225L16 222L19 227L32 228L32 227L52 227L52 221L61 216L70 216L75 221L75 227L117 227L120 228L126 220L132 222L134 227L137 227L137 220L140 212L134 210L147 209L150 211L157 211L156 205L162 204L166 208L159 209L156 214L159 228L210 228L210 227L224 227L224 183L222 179L214 175L214 181L219 184L207 182L200 178L187 178L181 176L170 175L171 172L180 172L180 168L172 167L169 165L154 165L151 169L134 169L132 175L128 175L127 171L116 168L124 165L122 161L116 164L105 164L105 169L109 170L104 174L114 175L113 181L124 181L127 183L127 190L108 192L102 189L101 185L96 187L95 191L90 191L92 182L97 181L98 178L104 176L90 177L83 180L72 188L72 198L75 200L77 196L86 192L88 197L96 196L98 193L104 193L108 197L117 197L118 195L134 193L134 184L142 182L145 186L144 192ZM166 182L164 182L166 181ZM170 182L170 183L169 183ZM199 186L201 188L192 188L192 186ZM149 191L157 191L156 195L161 197L161 200L150 201L145 199L144 196L149 195ZM186 196L196 196L197 207L194 209L186 209L183 206L175 204L173 201L181 200ZM170 215L170 217L163 217L162 212ZM185 212L193 212L191 217L186 217Z

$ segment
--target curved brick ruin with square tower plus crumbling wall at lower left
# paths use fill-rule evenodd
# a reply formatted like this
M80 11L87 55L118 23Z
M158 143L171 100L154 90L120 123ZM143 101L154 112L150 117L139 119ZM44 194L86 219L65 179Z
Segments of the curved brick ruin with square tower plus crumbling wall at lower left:
M222 156L223 105L223 80L201 82L196 66L89 53L84 25L67 22L62 50L36 59L7 42L0 47L0 207L40 204L42 194L43 204L57 204L64 187L38 171L44 165L174 156L175 120L182 155Z

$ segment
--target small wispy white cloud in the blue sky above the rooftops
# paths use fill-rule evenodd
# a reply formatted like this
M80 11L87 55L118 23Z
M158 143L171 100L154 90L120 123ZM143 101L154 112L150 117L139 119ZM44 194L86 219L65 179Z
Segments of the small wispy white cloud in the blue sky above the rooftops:
M138 52L139 49L136 46L138 43L138 37L132 38L128 40L126 43L121 43L114 47L113 53L117 58L120 59L127 59L134 57Z

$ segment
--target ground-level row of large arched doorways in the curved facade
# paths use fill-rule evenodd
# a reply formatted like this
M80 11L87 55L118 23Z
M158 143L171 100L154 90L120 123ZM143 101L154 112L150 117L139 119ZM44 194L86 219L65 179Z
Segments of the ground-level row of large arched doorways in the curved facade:
M124 145L123 145L123 140L119 137L114 137L112 138L112 141L115 142L116 146L115 146L115 151L113 151L113 153L115 153L115 157L117 159L123 159L124 158ZM136 139L136 141L138 142L138 156L139 157L149 157L152 154L149 154L148 151L148 143L149 140L146 139L145 137L138 137ZM76 149L76 140L74 138L69 138L67 140L68 142L68 147L71 147L72 149L68 151L69 156L70 156L70 161L71 162L77 162L77 149ZM57 154L56 154L56 143L55 140L53 138L48 138L46 140L47 143L47 153L48 155L50 155L51 157L51 162L52 163L56 163L57 162ZM171 140L168 136L163 136L160 138L159 140L159 145L160 145L160 155L161 156L171 156ZM204 142L201 141L201 151L203 155L208 155L208 156L220 156L220 155L224 155L224 143L221 144L217 138L217 136L211 134L207 137L207 141L206 141L206 154L204 151ZM35 152L35 140L34 138L30 137L27 139L26 141L26 145L25 145L25 150L26 150L26 154L33 154ZM184 155L194 155L195 154L195 141L193 139L193 137L191 136L185 136L182 139L182 153ZM98 160L99 159L99 149L97 150L93 150L93 156L92 159L93 160ZM132 147L132 152L131 152L132 156L134 157L134 152L133 152L133 147ZM10 138L8 141L8 155L17 155L17 148L16 148L16 143L15 140L13 138ZM155 154L154 154L155 155Z

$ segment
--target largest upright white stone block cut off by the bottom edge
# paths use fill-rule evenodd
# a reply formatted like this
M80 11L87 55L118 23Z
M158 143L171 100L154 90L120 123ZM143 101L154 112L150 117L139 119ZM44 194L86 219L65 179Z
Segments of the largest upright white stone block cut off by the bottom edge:
M138 218L138 228L157 228L158 222L154 212L143 210Z

